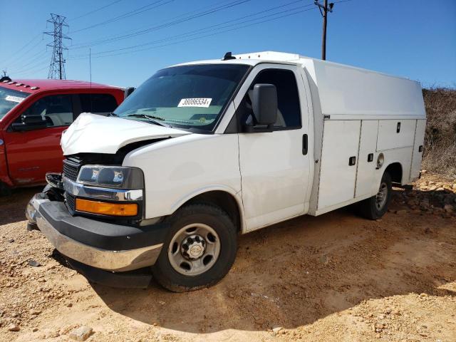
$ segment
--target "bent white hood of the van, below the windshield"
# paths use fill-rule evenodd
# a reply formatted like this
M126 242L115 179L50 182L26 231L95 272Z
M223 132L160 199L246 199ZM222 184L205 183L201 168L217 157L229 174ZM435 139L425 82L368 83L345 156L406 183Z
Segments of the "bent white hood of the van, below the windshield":
M120 147L132 142L187 134L191 133L143 121L82 113L62 134L61 147L63 155L83 152L115 154Z

